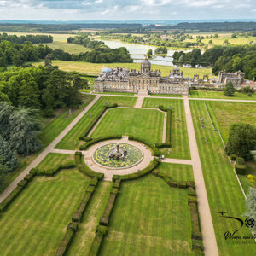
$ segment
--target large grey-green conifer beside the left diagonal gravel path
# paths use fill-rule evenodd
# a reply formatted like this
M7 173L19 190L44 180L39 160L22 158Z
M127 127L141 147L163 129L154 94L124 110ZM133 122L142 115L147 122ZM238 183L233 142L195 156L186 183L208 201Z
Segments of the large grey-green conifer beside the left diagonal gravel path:
M38 151L42 144L38 140L40 124L38 112L32 108L20 108L9 118L11 134L9 145L23 156Z

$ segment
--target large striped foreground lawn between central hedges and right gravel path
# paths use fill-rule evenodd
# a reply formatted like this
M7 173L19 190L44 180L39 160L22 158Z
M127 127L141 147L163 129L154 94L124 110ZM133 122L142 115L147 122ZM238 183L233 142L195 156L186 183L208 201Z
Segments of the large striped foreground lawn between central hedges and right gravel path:
M100 255L194 255L186 189L148 175L122 183Z

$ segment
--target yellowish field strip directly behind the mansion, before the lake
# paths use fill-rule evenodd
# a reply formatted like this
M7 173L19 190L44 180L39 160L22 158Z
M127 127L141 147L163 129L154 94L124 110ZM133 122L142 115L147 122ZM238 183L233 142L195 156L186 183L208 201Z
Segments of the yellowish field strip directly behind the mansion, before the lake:
M79 73L88 73L98 75L101 73L103 67L126 67L126 68L136 68L140 70L140 63L90 63L90 62L82 62L82 61L52 61L53 65L60 67L60 69L65 71L77 71ZM44 62L34 62L32 63L34 66L44 65ZM210 78L213 76L211 68L186 68L179 67L181 71L183 71L183 75L193 77L195 73L198 73L200 77L204 74L210 75ZM151 69L160 69L162 76L168 76L170 70L173 67L162 66L162 65L151 65Z

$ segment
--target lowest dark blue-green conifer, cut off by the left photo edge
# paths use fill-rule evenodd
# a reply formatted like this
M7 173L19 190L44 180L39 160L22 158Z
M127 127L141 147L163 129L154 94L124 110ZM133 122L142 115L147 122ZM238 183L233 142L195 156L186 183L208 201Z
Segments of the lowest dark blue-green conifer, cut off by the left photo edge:
M17 157L15 151L13 151L9 143L6 142L3 137L0 135L0 168L1 172L12 172L15 167L18 165Z

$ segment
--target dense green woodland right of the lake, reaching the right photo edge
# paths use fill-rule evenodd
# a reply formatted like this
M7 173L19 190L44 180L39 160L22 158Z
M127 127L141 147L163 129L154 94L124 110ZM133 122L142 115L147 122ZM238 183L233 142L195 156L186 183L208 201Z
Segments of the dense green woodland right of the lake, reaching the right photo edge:
M241 70L247 79L256 77L256 45L214 46L201 54L201 49L193 49L189 53L175 52L175 64L189 63L192 66L212 66L212 73L221 70L236 72Z

